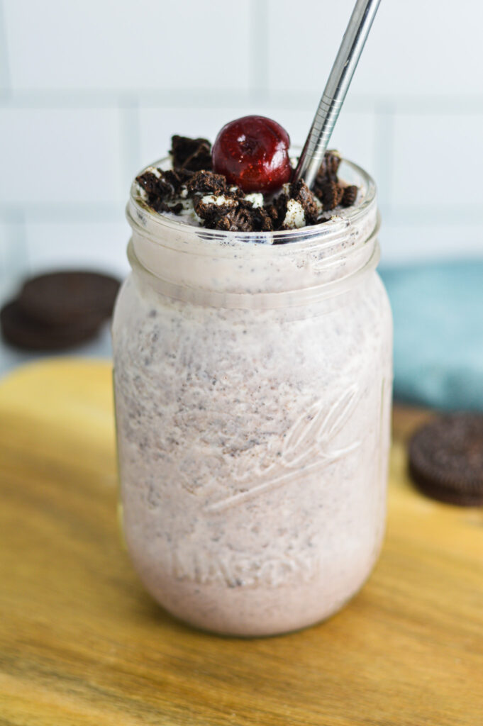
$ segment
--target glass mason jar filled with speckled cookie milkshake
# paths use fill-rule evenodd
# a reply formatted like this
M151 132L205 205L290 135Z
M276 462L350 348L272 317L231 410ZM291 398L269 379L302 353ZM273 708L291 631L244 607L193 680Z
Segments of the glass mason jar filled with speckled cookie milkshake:
M121 511L142 582L203 629L341 608L383 537L392 324L376 188L325 224L218 232L134 197L115 307ZM256 241L255 241L256 240Z

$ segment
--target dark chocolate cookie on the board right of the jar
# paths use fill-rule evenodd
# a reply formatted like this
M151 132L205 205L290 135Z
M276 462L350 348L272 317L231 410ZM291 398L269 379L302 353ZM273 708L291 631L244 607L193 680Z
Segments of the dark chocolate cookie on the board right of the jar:
M483 415L453 413L424 425L410 441L409 470L429 497L483 505Z

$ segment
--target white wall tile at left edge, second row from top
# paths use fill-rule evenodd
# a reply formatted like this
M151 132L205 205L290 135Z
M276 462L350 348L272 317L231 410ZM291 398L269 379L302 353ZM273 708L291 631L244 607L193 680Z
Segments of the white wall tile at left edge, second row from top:
M0 109L2 203L121 199L117 110Z

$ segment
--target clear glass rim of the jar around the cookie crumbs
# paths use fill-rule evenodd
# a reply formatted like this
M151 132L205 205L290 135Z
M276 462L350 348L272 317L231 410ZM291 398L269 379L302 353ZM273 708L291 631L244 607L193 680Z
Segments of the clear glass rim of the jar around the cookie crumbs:
M155 161L151 166L163 166L169 161L169 157ZM349 172L349 176L355 177L354 184L362 187L363 197L360 204L338 211L336 216L328 221L312 224L299 229L286 229L277 232L227 232L218 229L206 229L205 227L195 227L195 225L187 224L183 221L170 219L169 217L156 213L146 204L139 201L136 194L135 181L131 184L129 192L129 202L126 207L126 216L132 229L140 234L154 234L159 236L161 244L163 242L164 232L178 232L189 242L190 240L198 240L199 242L213 242L214 244L206 245L206 253L213 253L214 246L217 247L217 253L227 248L234 249L243 248L246 250L250 245L256 245L257 256L283 256L284 254L293 253L301 250L306 245L312 246L314 243L317 247L325 241L334 242L343 234L346 234L347 228L356 226L365 216L374 208L376 204L377 187L373 178L361 166L342 159L341 176L344 177L344 169ZM218 243L216 245L216 243ZM198 246L198 245L197 245ZM203 245L205 246L205 245ZM200 253L198 247L197 253Z

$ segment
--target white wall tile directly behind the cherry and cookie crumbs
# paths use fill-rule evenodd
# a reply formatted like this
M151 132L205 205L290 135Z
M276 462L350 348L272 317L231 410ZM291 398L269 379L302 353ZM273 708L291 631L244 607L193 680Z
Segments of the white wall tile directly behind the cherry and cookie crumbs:
M230 108L145 107L140 111L142 163L147 164L165 156L173 134L206 136L214 142L224 123L251 113L274 118L288 131L292 144L301 146L312 123L314 110L307 107L282 108L255 102ZM373 171L375 136L375 116L372 113L344 110L330 146L338 148L346 158L356 161L368 171Z

